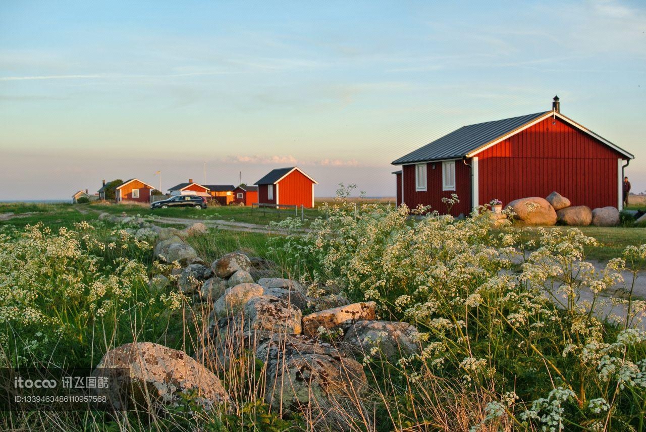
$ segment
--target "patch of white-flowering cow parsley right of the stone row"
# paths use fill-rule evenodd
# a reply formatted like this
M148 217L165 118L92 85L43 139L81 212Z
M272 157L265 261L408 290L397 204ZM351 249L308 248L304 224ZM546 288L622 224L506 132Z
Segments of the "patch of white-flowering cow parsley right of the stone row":
M521 243L517 231L492 231L488 208L464 220L428 210L328 205L311 231L275 248L312 291L336 286L417 327L422 352L388 371L406 377L413 404L444 382L495 395L471 431L501 420L514 430L646 430L646 333L634 327L646 302L632 296L646 245L597 270L584 254L596 240L578 229L538 228ZM605 296L616 284L625 296ZM626 313L594 313L604 302Z

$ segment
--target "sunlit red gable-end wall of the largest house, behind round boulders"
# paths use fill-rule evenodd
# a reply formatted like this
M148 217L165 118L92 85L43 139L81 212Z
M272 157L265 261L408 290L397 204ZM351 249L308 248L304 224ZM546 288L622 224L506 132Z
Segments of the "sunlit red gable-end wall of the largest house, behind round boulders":
M480 204L556 190L572 205L618 205L621 154L561 119L545 119L476 156Z

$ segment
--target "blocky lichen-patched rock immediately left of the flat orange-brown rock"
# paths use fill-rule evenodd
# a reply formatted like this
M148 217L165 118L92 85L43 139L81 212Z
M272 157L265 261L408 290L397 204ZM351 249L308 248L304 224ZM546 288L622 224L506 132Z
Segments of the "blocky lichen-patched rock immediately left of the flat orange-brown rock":
M245 331L300 334L302 313L274 296L251 298L242 309Z

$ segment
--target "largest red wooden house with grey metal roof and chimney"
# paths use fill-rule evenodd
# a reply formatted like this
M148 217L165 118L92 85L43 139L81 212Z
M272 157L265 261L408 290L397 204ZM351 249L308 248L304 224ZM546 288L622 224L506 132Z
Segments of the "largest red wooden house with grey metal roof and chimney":
M572 205L622 208L623 169L634 156L559 111L477 123L454 130L392 162L397 203L430 205L457 194L454 215L497 199L548 196L556 190Z

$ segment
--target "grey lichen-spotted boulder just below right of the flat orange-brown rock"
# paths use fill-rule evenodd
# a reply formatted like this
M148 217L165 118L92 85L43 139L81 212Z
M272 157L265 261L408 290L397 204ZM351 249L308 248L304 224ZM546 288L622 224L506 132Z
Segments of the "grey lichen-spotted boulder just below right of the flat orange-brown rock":
M414 341L417 329L406 322L357 321L344 329L348 351L368 355L373 347L386 358L408 356L419 352Z

